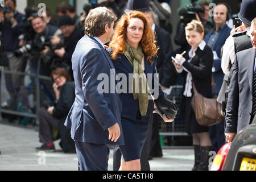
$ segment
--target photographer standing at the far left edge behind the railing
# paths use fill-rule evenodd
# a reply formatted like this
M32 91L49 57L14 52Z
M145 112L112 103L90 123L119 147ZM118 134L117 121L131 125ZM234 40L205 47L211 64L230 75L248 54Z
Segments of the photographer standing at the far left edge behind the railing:
M17 57L14 51L19 48L19 35L23 34L22 27L23 14L18 13L15 0L5 0L4 20L0 23L0 31L2 32L2 42L5 44L7 57L9 58L9 66L7 71L24 72L26 63L22 57ZM10 93L9 106L16 108L16 98L20 87L23 85L24 77L20 75L6 74L6 88Z

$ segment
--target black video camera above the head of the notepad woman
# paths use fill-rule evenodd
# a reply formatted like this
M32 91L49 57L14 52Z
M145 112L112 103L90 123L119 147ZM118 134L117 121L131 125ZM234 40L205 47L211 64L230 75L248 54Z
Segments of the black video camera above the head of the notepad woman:
M190 22L192 19L196 19L196 13L204 12L204 6L196 5L197 0L190 0L191 3L186 7L179 10L180 19L184 19L186 22Z

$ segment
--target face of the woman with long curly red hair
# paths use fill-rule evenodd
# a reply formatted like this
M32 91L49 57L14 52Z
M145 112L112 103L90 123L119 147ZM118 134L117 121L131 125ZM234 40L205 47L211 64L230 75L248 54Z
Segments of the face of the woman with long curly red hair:
M144 31L144 23L139 18L130 19L130 24L127 27L127 43L131 46L138 47L139 42L141 42Z

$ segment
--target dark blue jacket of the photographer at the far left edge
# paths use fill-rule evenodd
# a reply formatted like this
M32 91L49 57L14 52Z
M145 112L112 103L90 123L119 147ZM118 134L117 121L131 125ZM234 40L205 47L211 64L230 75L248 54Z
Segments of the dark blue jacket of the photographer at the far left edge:
M25 32L22 25L23 17L23 14L16 11L14 13L14 19L18 22L16 26L12 27L11 22L6 19L3 23L0 23L0 31L2 31L6 51L11 52L19 48L19 35Z

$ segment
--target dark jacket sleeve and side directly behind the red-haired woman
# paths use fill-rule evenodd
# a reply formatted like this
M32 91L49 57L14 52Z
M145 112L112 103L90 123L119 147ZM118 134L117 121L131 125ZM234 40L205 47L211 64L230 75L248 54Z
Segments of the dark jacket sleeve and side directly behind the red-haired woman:
M156 71L159 74L159 82L163 86L170 87L176 84L178 78L174 71L174 64L171 62L173 54L171 36L158 26L155 26L155 33L156 46L159 47L158 57L156 57Z

